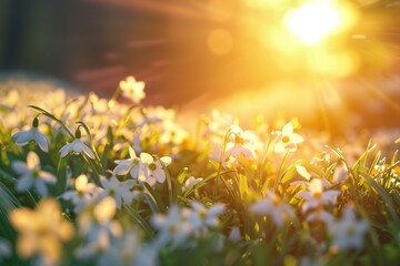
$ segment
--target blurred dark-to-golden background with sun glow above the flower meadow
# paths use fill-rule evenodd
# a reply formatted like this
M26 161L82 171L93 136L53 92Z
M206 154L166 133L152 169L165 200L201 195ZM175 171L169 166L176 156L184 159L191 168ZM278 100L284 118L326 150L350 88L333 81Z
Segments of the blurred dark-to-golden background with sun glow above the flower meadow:
M187 117L393 129L399 16L394 0L1 0L0 74L102 96L134 75Z

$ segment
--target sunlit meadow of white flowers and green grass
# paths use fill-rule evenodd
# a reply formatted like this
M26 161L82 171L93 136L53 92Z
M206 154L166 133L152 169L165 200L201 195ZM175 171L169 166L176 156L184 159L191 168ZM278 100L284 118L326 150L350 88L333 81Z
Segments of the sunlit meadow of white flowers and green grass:
M184 129L144 96L133 76L0 96L0 264L399 265L396 137L219 111Z

